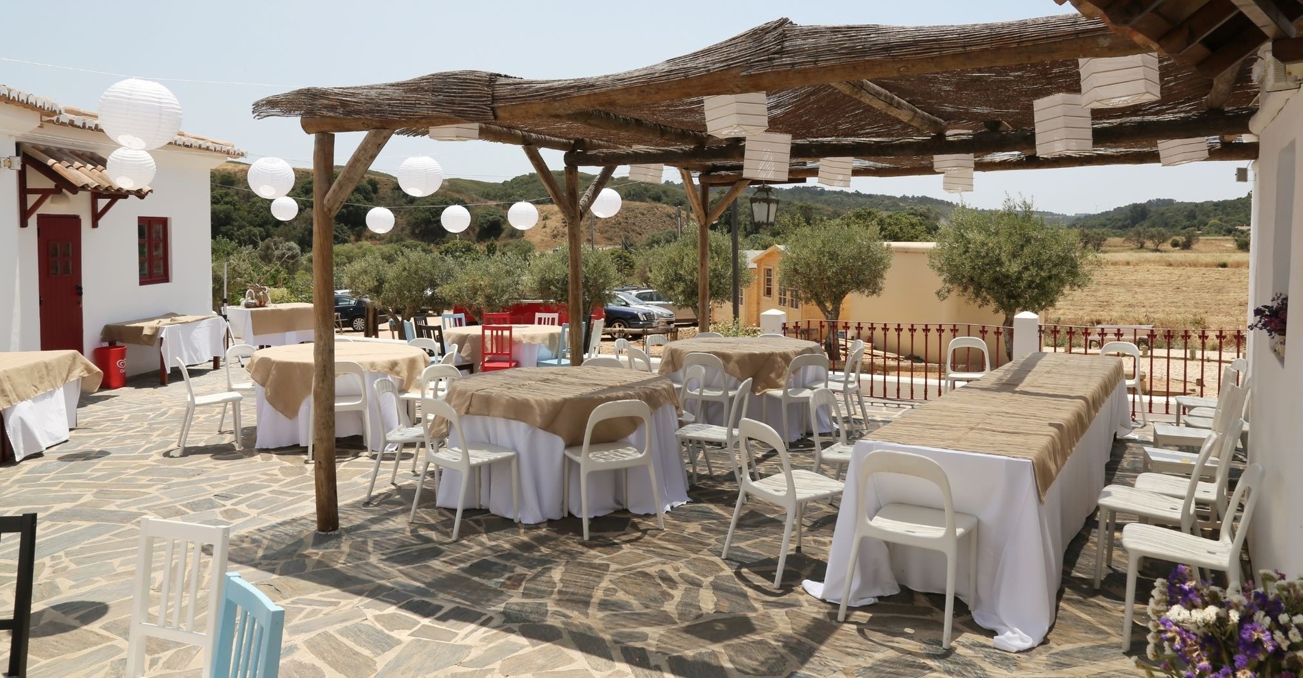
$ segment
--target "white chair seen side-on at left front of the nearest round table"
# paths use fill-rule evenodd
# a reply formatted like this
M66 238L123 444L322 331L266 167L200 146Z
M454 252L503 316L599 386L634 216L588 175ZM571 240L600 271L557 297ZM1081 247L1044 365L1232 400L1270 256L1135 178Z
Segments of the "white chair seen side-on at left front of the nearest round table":
M520 455L516 450L499 448L487 442L466 442L465 433L461 432L461 418L457 411L444 401L425 398L421 401L421 411L425 413L422 433L425 441L425 461L421 465L421 480L416 484L416 495L412 497L412 514L408 522L416 521L416 508L421 502L421 489L425 488L425 476L434 465L434 487L438 492L440 468L452 468L461 475L461 489L457 492L457 517L452 522L452 540L457 540L461 534L461 511L466 506L466 488L470 487L472 471L476 476L476 505L480 505L480 470L490 463L511 462L511 511L515 521L520 522ZM435 436L435 427L439 419L447 422L447 431L443 437ZM451 441L457 444L452 445Z

